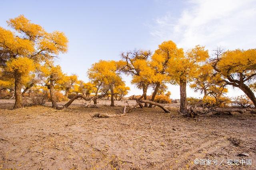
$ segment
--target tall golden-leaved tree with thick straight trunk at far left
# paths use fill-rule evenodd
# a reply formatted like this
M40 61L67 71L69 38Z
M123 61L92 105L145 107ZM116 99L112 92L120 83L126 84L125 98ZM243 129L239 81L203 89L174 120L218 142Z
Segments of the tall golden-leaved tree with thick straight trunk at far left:
M33 71L34 65L66 52L68 39L62 32L46 32L23 15L7 23L15 32L0 27L0 67L15 79L16 109L22 107L22 76Z

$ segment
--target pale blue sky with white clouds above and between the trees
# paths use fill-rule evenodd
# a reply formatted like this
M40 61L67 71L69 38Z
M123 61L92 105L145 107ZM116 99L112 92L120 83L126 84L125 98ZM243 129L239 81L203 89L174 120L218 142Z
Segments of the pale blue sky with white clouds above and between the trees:
M120 59L120 52L151 49L173 40L185 50L206 45L226 49L256 47L255 0L2 0L0 26L24 14L48 32L60 30L69 39L68 53L56 63L65 73L88 81L86 71L100 59ZM130 85L129 95L141 91ZM179 87L169 86L173 98ZM230 89L228 95L240 94ZM188 96L199 97L188 89ZM242 94L242 93L241 93Z

